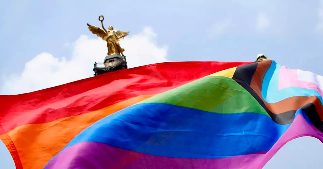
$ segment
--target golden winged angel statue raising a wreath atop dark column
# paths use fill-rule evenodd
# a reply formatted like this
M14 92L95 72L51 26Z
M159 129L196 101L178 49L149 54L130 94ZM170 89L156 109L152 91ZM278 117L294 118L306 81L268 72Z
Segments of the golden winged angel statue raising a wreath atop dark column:
M124 38L129 34L129 31L123 32L123 31L116 31L114 32L113 27L109 26L108 31L103 26L103 20L104 17L101 15L99 16L99 21L101 21L102 28L90 25L88 23L89 30L96 34L97 36L101 37L104 41L107 41L107 47L108 47L108 55L113 54L120 54L123 56L124 49L120 47L119 39Z

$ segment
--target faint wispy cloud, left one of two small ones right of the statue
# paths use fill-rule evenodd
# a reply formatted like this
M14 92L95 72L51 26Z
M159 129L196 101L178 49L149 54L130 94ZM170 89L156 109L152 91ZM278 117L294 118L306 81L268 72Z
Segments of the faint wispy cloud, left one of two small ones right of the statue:
M231 20L229 18L224 18L216 23L214 23L209 29L210 37L218 38L223 35L231 24Z

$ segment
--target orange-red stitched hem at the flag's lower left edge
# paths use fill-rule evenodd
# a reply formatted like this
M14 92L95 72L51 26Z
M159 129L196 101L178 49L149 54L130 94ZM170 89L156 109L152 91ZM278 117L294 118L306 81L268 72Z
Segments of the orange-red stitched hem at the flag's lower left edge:
M0 130L3 130L2 125L0 124ZM11 140L11 138L5 133L3 135L0 136L0 139L3 141L3 143L5 144L5 146L8 148L10 155L12 156L15 165L16 165L16 169L23 169L22 164L21 164L21 160L19 158L16 146L14 144L14 142Z

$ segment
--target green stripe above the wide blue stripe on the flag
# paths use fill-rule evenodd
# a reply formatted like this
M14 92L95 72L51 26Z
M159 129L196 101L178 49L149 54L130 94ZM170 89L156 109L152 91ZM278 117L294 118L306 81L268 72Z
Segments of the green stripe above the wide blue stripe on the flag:
M207 76L140 103L165 103L214 113L267 114L257 100L231 78Z

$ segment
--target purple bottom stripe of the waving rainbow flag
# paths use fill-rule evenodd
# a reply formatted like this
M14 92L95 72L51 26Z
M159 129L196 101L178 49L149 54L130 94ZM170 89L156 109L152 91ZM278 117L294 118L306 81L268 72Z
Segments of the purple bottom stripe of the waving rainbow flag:
M83 142L58 154L46 168L114 168L114 169L215 169L262 168L288 141L300 136L313 136L323 142L323 134L309 125L302 115L268 151L217 159L171 158L124 150L102 143Z

